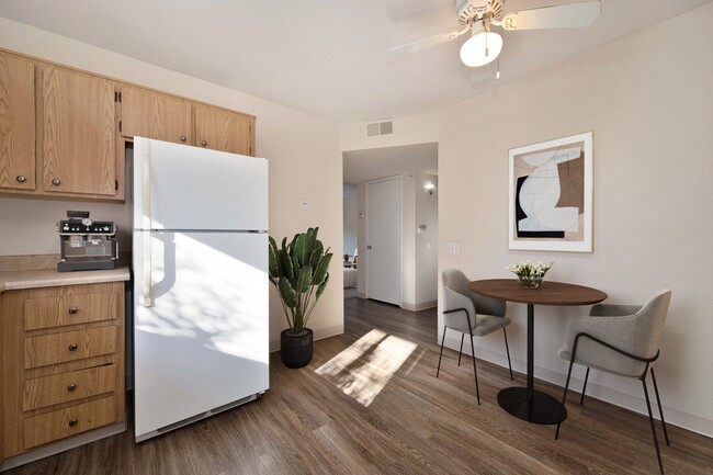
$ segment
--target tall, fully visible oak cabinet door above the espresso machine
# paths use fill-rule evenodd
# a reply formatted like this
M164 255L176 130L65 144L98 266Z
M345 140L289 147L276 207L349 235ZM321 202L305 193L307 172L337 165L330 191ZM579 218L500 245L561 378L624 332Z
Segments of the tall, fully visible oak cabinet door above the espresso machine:
M116 195L114 84L55 66L42 78L44 190Z

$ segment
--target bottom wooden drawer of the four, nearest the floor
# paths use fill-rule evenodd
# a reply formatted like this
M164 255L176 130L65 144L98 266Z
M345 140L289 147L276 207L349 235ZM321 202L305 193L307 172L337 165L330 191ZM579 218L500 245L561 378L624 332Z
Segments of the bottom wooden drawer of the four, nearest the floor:
M29 417L24 420L24 448L32 449L115 421L115 396Z

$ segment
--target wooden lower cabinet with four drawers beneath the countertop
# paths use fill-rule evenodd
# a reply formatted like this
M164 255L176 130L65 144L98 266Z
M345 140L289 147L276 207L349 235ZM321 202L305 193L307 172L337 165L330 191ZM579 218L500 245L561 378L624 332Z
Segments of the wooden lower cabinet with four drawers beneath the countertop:
M0 462L125 420L124 282L0 293Z

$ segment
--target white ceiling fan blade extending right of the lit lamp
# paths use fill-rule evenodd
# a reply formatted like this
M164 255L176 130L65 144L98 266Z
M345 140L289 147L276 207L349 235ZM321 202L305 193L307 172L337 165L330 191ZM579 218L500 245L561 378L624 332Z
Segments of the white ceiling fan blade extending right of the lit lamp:
M509 31L579 29L592 24L599 16L600 11L601 3L599 0L521 10L505 15L502 27Z

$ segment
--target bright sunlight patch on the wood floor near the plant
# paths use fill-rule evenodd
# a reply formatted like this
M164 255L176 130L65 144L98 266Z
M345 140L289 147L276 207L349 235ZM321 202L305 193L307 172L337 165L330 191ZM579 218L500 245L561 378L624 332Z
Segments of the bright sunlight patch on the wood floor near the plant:
M418 346L380 330L364 335L315 372L366 407Z

